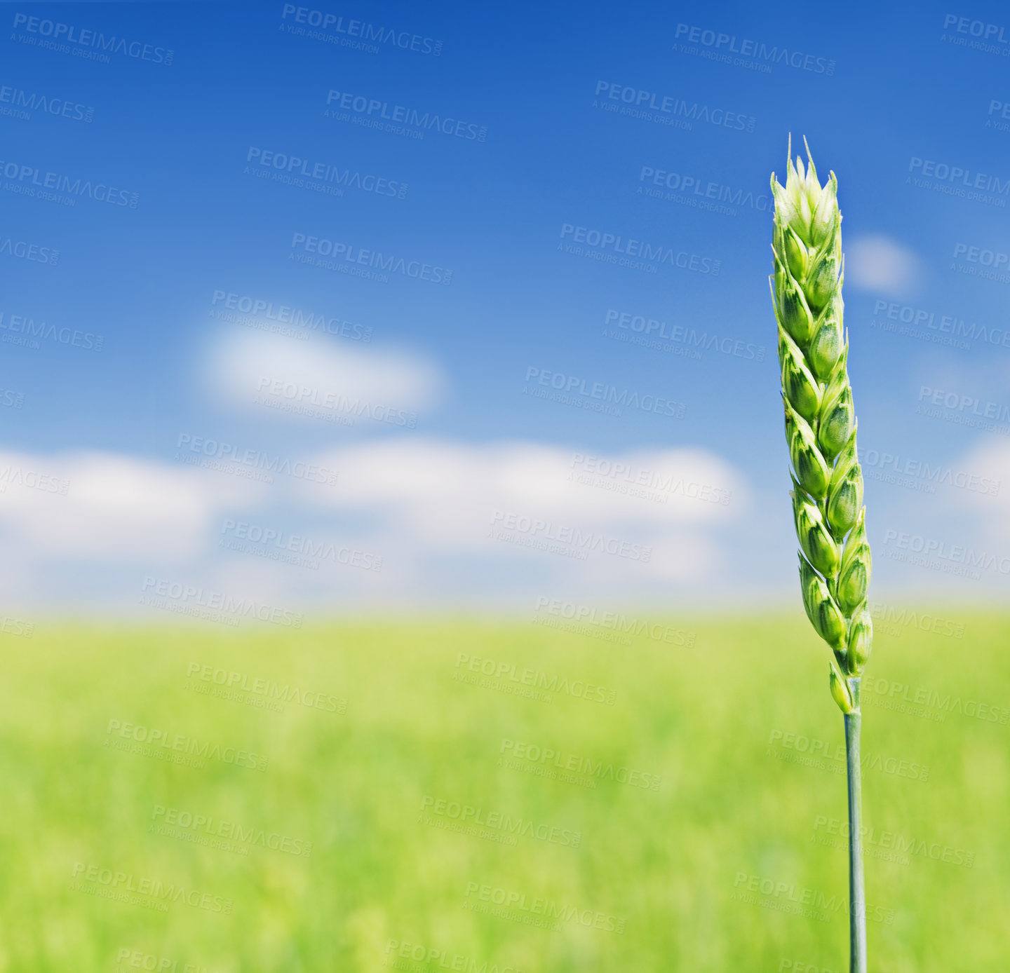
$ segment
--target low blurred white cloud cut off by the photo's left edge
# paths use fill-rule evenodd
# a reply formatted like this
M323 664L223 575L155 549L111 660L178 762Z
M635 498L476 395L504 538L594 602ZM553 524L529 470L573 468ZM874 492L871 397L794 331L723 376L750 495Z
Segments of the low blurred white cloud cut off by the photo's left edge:
M0 523L19 556L184 560L215 514L261 488L206 470L109 453L0 453Z

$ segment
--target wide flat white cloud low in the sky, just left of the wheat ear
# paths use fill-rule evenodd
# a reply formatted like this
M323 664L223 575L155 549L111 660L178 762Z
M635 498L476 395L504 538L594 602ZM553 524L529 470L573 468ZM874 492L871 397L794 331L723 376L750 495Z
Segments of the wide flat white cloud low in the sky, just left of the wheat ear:
M539 559L587 577L698 576L718 561L708 529L746 504L740 475L702 449L588 456L534 443L400 439L318 461L339 470L339 484L304 484L306 498L379 515L415 557Z

